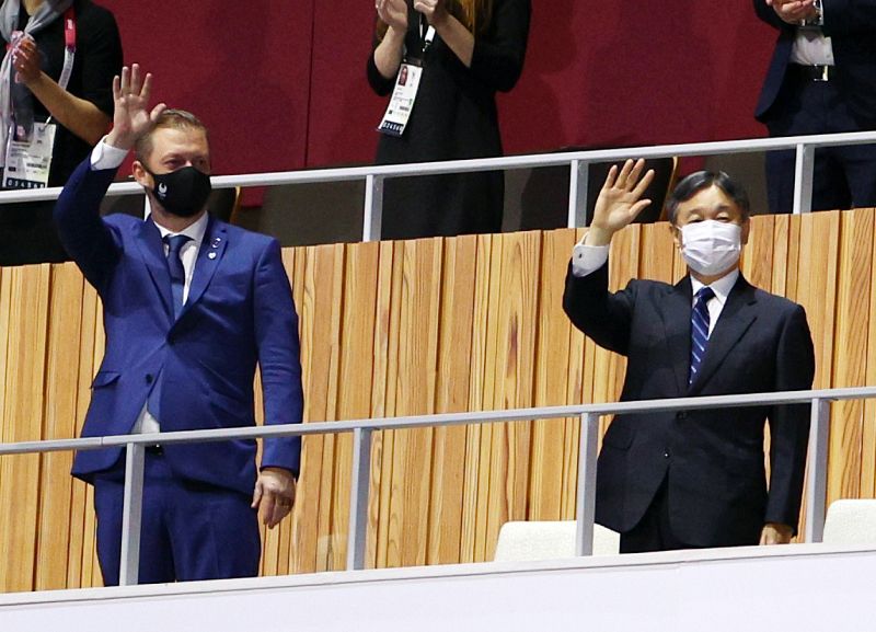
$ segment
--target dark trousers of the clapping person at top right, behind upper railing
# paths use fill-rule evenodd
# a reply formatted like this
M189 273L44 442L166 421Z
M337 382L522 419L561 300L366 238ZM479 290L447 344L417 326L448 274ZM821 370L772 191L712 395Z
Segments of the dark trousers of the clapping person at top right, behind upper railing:
M770 136L864 131L834 80L812 81L792 65L766 122ZM771 212L791 212L795 152L766 154ZM812 210L876 206L876 145L827 147L815 152Z

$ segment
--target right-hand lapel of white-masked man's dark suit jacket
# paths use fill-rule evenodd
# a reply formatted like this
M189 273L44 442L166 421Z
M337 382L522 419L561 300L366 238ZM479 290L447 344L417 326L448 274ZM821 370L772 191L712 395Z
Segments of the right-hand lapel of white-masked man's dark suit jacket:
M700 374L688 394L693 395L702 390L703 384L715 374L730 349L758 318L753 307L756 303L754 288L740 274L721 311L718 322L712 330L712 335L708 336L708 348L700 367Z

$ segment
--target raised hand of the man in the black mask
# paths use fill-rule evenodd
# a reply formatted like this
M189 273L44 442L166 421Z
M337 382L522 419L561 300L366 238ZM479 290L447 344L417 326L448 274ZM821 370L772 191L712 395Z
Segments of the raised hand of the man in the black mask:
M152 74L140 76L140 66L134 64L122 69L122 77L113 79L113 129L106 142L119 149L130 149L143 134L155 126L158 117L166 110L159 103L149 110L149 97L152 93Z

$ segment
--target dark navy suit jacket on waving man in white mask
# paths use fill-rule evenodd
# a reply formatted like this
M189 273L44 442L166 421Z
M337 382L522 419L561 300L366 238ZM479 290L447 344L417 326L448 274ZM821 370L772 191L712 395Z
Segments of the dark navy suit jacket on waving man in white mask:
M608 263L566 277L563 307L599 346L626 356L621 401L811 387L812 342L803 308L739 276L689 387L691 281L631 280L608 290ZM771 430L770 489L764 424ZM809 436L806 405L619 415L597 467L597 521L635 527L665 478L673 535L695 547L757 544L765 522L796 528Z

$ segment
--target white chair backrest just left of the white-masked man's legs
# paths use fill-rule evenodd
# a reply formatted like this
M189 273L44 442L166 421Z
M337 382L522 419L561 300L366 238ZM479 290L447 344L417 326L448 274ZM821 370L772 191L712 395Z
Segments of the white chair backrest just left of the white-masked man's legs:
M619 552L620 535L600 525L593 528L593 555ZM496 544L498 561L557 560L575 556L575 520L505 522Z

